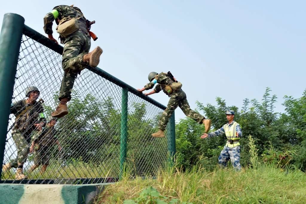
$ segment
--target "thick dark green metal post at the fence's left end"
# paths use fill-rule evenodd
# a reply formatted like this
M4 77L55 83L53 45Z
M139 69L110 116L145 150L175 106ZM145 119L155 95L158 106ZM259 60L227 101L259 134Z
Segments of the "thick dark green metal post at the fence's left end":
M13 96L19 49L24 18L15 13L6 13L0 34L0 164L4 158L6 132ZM0 180L1 180L0 170Z

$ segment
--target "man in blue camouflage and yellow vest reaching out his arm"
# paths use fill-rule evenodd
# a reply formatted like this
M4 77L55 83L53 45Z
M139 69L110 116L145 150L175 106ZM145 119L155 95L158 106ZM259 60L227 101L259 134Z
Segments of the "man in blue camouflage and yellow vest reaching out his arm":
M214 137L222 134L226 134L228 139L226 145L222 149L218 158L221 166L226 166L230 160L235 170L241 170L240 165L240 143L239 139L242 136L240 125L234 121L235 112L233 110L226 111L226 119L229 121L223 125L219 130L211 132L209 134L203 134L201 138Z

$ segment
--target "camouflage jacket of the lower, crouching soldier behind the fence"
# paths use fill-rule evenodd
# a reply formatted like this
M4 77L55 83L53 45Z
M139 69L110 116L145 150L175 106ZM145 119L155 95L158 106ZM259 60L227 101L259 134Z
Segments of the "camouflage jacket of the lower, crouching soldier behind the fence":
M35 132L32 139L35 144L39 144L42 148L50 147L57 141L55 135L55 128L46 126L42 130Z

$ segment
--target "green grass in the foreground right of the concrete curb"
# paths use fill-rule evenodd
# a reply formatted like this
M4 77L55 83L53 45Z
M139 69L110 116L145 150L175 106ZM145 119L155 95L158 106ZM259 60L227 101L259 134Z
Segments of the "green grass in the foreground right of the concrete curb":
M129 179L109 185L95 203L123 203L135 199L152 186L168 203L304 203L306 200L306 174L294 169L280 169L259 165L235 172L231 168L216 168L207 172L194 167L182 172L177 168L160 170L157 179ZM154 203L154 202L149 202Z

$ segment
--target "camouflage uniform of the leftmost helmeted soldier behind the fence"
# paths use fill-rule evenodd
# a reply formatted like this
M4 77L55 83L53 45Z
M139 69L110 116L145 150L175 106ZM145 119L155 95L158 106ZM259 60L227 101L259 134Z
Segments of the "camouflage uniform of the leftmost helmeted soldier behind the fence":
M11 105L11 113L17 117L20 115L28 106L32 104L26 104L26 100L20 100L14 102ZM34 124L40 123L42 120L45 120L43 115L43 106L35 102L31 108L19 116L15 120L13 125L12 137L17 148L17 158L11 162L11 166L17 168L17 162L23 163L27 160L30 142L31 142L31 133L36 129Z

